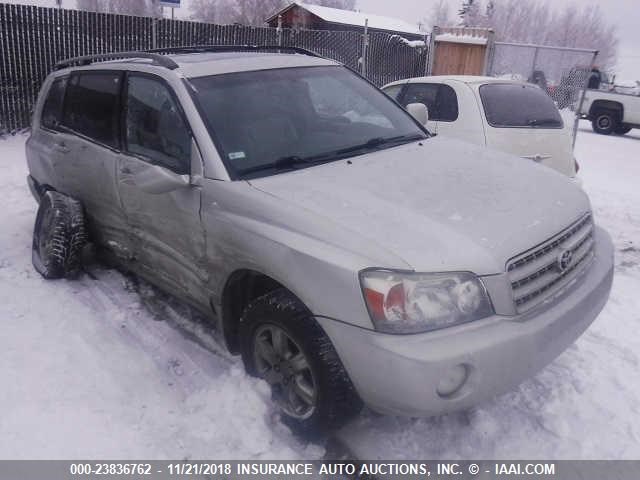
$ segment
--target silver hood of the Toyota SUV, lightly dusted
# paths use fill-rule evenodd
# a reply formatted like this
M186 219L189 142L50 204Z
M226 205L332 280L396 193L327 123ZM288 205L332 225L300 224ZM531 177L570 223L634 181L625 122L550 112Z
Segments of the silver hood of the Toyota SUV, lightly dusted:
M250 183L425 272L504 272L590 210L564 175L439 137Z

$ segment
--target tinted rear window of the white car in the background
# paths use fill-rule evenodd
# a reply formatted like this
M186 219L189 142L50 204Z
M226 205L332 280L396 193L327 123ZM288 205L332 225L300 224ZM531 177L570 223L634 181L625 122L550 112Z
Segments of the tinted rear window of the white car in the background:
M535 85L489 84L480 87L487 122L492 127L562 128L551 97Z

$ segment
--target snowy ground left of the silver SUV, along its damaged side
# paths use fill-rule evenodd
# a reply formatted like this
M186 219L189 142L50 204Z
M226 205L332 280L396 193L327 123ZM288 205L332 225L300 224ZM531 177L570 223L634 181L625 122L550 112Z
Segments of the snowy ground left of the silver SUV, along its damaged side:
M190 309L98 265L34 271L24 142L0 138L0 459L321 457Z

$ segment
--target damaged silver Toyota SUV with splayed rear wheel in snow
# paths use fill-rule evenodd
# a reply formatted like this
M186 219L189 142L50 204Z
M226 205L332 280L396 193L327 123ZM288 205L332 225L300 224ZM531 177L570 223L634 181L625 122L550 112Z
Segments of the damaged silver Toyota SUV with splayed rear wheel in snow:
M217 323L302 430L363 402L426 416L505 392L607 301L612 244L580 188L432 138L334 61L117 58L62 62L42 88L34 266L74 275L90 239Z

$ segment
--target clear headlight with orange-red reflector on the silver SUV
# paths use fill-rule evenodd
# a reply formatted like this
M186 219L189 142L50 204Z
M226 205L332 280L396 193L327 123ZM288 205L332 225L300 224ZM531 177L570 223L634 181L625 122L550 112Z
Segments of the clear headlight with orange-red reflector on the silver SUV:
M469 272L363 270L360 284L376 330L417 333L492 315L484 285Z

